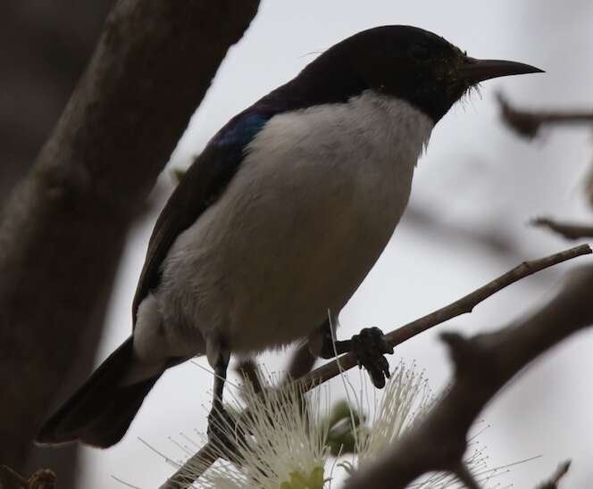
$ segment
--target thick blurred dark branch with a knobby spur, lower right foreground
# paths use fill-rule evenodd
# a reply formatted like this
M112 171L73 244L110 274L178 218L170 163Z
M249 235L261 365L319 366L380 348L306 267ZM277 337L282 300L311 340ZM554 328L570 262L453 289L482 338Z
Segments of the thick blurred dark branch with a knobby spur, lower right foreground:
M454 384L420 424L359 470L345 489L403 489L425 472L456 473L467 449L467 432L494 395L541 353L593 324L592 287L593 265L581 267L527 319L472 338L444 334L455 363Z

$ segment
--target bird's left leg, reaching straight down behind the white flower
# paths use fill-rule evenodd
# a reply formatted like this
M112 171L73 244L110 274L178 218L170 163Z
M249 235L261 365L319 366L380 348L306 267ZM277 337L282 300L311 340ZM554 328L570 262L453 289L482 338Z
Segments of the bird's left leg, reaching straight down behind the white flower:
M224 383L227 378L227 369L230 361L230 351L219 346L214 361L214 388L212 409L208 415L208 439L222 450L224 457L238 463L236 440L238 432L237 420L225 410L222 402Z

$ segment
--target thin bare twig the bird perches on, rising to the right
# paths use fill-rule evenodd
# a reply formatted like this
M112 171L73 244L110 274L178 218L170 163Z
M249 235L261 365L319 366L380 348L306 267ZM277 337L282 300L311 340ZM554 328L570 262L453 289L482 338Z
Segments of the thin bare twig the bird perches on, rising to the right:
M589 245L580 245L564 252L549 255L539 260L524 261L518 267L515 267L500 277L495 278L487 285L481 286L471 294L465 295L463 298L455 301L455 303L450 303L438 311L431 312L421 319L416 319L415 321L408 323L403 327L399 327L395 331L392 331L387 335L388 343L392 346L401 344L407 339L422 333L422 331L425 331L430 327L436 326L447 321L448 319L455 318L456 316L460 316L464 313L471 312L478 303L488 299L490 295L496 294L498 291L505 288L505 286L514 284L514 282L528 277L542 269L547 269L548 267L552 267L563 261L571 260L578 256L590 253L592 252L589 248ZM355 367L355 365L356 361L354 356L347 353L346 355L339 357L339 366L338 360L330 361L319 369L314 369L309 375L298 379L298 382L301 382L305 389L310 389L315 385L319 385L327 380L330 380L330 378L338 376L341 371L352 369ZM464 445L464 443L462 444ZM431 450L439 452L435 449L435 447L438 446L444 446L444 443L438 442L432 446ZM200 459L200 453L206 455L204 460ZM173 476L171 476L163 485L161 485L161 489L185 489L189 487L193 480L188 480L188 468L196 466L203 468L203 471L200 473L196 473L196 470L192 470L192 476L197 478L215 460L216 457L213 456L213 447L210 445L210 443L206 443L200 452L197 452L196 455L191 457ZM450 471L455 473L458 472L458 468L459 460L455 460L455 465L449 466ZM196 480L196 478L194 480Z

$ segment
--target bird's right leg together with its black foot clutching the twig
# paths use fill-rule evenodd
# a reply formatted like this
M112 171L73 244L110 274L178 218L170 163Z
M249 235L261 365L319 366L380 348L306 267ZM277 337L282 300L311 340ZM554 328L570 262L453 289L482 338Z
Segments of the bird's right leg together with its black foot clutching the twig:
M373 385L379 389L385 386L385 378L389 377L389 364L384 355L393 353L393 347L389 346L379 327L365 327L349 340L334 342L330 320L326 320L321 333L322 358L330 359L351 352L355 355L358 367L364 367L369 372Z

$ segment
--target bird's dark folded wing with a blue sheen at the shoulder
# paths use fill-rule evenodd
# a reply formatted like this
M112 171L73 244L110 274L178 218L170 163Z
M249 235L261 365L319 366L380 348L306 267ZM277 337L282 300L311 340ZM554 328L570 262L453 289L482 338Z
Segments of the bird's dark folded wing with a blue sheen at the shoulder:
M271 115L269 112L255 112L255 109L238 114L221 128L181 178L180 184L156 220L148 242L146 261L132 304L134 324L138 306L158 286L161 264L171 245L221 195L238 170L246 145L263 128Z

